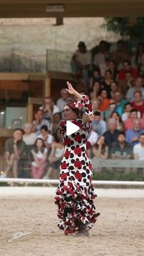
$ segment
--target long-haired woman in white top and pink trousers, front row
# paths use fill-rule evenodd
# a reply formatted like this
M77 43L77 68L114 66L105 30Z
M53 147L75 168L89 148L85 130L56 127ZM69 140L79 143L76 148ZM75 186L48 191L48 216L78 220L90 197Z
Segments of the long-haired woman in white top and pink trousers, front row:
M34 149L31 152L34 157L32 162L32 178L41 178L45 172L48 153L48 149L45 147L42 139L36 139Z

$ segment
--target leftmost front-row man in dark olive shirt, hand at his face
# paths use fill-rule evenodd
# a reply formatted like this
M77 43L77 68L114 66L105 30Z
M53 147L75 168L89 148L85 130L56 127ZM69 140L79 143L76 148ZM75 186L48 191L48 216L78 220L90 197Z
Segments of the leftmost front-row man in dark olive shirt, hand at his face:
M6 169L1 178L6 178L10 170L14 178L18 178L18 161L26 155L26 144L23 141L23 131L16 129L13 137L5 142Z

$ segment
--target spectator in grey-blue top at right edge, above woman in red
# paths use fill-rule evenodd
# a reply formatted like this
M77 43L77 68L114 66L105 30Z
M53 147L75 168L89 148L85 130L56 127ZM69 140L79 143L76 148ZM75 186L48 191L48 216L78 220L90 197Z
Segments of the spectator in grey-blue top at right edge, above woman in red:
M136 90L139 90L142 92L142 99L144 100L144 88L143 88L143 78L137 78L135 81L135 86L132 88L129 88L128 92L126 93L126 98L129 102L134 101L134 92Z

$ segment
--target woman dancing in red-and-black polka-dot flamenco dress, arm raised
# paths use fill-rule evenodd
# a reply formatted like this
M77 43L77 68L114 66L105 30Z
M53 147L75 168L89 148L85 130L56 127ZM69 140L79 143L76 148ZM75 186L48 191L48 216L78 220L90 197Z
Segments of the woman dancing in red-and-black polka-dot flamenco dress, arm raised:
M88 230L98 219L93 199L96 197L92 185L92 163L87 154L86 144L93 120L93 106L86 95L81 95L69 82L68 93L77 100L63 107L65 120L60 121L65 152L60 163L60 183L56 189L59 229L65 235L88 236ZM85 108L85 114L79 119L79 109ZM67 136L67 120L79 126L79 130Z

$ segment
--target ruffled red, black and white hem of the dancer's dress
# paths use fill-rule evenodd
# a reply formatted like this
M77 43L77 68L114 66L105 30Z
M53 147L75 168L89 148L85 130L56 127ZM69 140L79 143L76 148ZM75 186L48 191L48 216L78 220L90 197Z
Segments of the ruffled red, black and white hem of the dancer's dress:
M92 185L83 187L70 181L62 181L56 190L57 216L61 221L59 229L64 230L65 235L71 235L79 231L76 221L85 224L86 229L92 229L100 213L96 213L93 203L96 194Z

